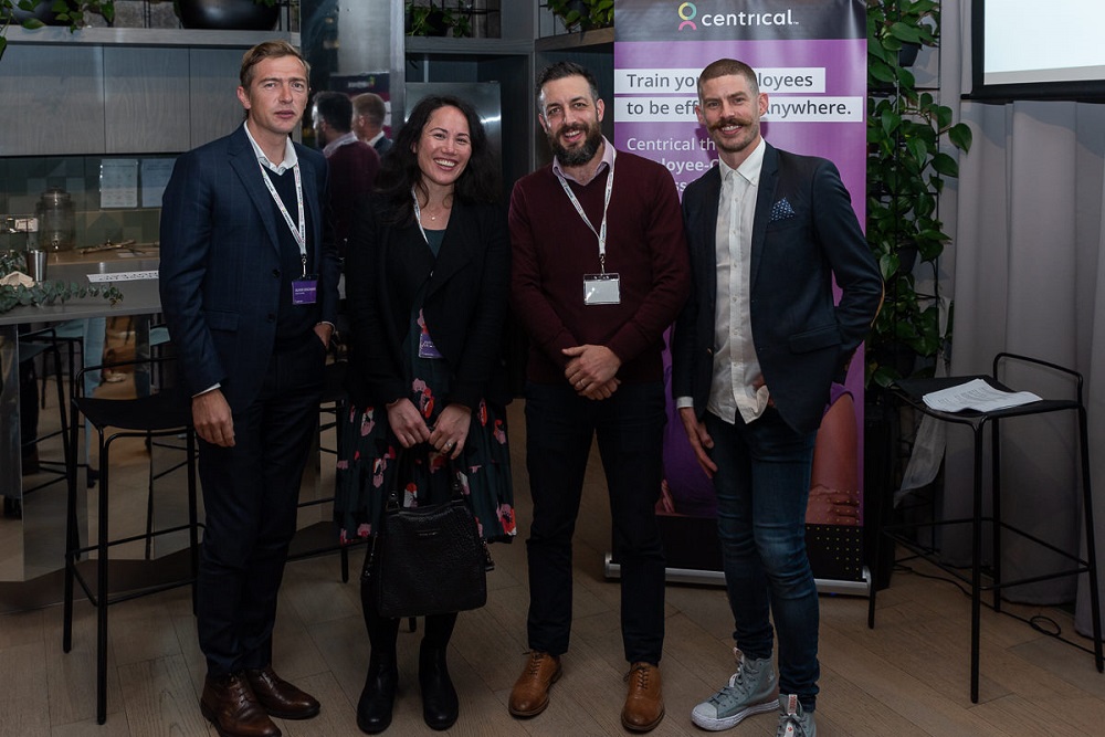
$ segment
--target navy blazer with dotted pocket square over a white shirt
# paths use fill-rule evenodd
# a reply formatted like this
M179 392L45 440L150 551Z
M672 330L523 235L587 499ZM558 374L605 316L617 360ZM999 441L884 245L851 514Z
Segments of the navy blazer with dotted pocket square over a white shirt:
M765 144L753 223L750 298L756 355L775 407L798 432L815 430L830 385L843 381L882 302L878 266L836 167ZM702 418L714 369L718 167L683 194L692 293L675 326L672 393ZM789 206L789 207L788 207ZM833 304L832 280L843 291Z

